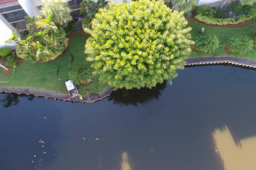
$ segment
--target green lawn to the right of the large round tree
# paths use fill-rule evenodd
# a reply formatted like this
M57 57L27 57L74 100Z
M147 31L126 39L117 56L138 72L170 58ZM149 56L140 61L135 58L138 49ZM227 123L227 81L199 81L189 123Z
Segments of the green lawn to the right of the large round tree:
M188 58L200 58L200 57L213 57L213 56L224 56L229 55L238 58L246 58L251 60L256 60L256 51L252 50L250 53L246 53L244 55L241 54L227 54L223 50L223 45L230 39L232 36L250 36L252 38L256 37L256 21L252 21L242 28L215 28L211 26L205 26L201 23L197 23L195 21L189 21L189 26L192 28L191 34L192 37L197 36L199 34L200 29L203 27L205 31L203 34L214 34L219 38L220 47L215 50L214 53L201 53L192 51L192 53L188 56Z

